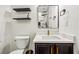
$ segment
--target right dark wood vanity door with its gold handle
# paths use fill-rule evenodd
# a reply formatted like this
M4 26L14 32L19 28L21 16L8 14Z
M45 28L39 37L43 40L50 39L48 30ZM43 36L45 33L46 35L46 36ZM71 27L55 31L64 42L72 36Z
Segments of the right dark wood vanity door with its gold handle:
M73 44L56 44L56 54L73 54Z

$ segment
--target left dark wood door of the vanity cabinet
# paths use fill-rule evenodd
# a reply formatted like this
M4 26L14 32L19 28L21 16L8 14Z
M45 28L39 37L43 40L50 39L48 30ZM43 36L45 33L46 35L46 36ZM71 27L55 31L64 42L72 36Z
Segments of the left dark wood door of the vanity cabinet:
M50 54L50 44L36 43L35 54Z

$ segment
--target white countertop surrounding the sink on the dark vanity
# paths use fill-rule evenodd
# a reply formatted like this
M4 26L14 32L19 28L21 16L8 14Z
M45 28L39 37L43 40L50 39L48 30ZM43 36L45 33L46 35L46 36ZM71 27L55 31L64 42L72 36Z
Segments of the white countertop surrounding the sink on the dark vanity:
M67 39L67 38L62 38L59 36L61 39L42 39L42 35L36 35L33 42L34 43L75 43L74 40Z

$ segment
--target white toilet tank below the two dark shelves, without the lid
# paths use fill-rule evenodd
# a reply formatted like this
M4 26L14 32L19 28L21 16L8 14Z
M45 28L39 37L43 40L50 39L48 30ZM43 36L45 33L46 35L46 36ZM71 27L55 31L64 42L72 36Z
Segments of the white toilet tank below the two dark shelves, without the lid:
M24 49L29 43L29 36L16 36L15 43L18 49Z

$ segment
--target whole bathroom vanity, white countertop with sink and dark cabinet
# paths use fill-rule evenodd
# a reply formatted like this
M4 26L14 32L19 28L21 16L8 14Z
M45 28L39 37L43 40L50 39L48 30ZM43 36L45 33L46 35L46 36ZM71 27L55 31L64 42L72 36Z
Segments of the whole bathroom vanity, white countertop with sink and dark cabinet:
M74 40L59 35L36 35L34 42L35 54L73 54Z

